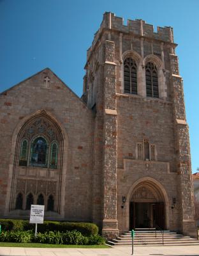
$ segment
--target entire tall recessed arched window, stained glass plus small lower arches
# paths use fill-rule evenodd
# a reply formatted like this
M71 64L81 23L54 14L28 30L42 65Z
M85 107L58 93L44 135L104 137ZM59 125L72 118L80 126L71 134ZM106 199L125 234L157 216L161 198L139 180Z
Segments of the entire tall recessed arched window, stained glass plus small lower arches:
M31 204L46 205L47 211L48 204L49 211L60 212L61 200L57 198L62 196L61 177L64 170L61 163L66 155L63 154L66 152L63 145L66 144L61 127L45 111L22 125L15 148L17 161L11 182L10 211L29 210ZM26 169L22 168L25 165ZM18 214L24 213L18 211Z

